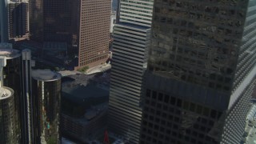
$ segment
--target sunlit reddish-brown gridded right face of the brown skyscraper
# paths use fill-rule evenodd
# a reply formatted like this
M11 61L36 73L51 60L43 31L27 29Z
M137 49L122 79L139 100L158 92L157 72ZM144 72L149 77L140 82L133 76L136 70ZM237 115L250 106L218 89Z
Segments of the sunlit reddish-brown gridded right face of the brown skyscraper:
M78 67L106 62L110 40L110 0L81 0Z

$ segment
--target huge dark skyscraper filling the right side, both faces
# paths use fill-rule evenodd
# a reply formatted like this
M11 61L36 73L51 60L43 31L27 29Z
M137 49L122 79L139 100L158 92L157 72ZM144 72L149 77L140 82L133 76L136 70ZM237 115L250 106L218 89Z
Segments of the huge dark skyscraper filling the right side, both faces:
M254 86L256 2L154 1L140 143L239 143Z

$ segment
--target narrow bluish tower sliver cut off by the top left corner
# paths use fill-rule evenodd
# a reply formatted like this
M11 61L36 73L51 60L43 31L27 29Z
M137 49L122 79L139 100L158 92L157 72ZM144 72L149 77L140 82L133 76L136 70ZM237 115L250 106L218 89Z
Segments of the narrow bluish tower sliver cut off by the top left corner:
M7 0L0 2L0 42L8 41Z

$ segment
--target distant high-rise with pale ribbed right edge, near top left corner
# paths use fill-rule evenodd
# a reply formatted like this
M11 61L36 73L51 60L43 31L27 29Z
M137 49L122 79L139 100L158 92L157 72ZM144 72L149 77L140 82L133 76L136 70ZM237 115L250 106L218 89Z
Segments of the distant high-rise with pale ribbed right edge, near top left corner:
M28 3L8 2L9 39L28 38Z

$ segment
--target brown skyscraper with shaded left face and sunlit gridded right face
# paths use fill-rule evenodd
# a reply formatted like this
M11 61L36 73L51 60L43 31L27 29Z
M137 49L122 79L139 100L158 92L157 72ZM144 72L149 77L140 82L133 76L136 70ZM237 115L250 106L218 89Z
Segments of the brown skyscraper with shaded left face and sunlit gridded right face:
M78 58L75 69L106 62L110 5L110 0L44 0L44 41L66 42L70 58Z

